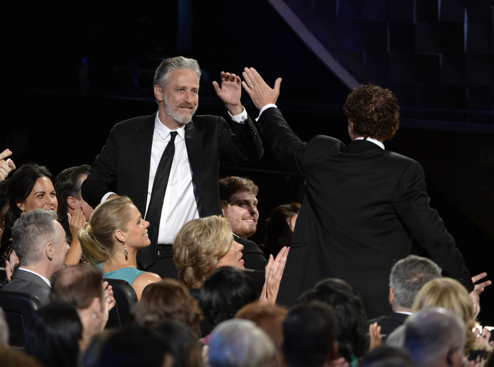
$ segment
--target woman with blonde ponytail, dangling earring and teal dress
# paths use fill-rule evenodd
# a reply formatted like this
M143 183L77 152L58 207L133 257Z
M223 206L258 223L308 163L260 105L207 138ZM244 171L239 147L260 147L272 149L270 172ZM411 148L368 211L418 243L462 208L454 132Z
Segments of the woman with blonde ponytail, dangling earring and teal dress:
M161 281L137 270L137 251L151 243L148 226L132 200L118 196L99 204L78 234L84 257L103 269L104 278L127 281L139 300L148 284Z

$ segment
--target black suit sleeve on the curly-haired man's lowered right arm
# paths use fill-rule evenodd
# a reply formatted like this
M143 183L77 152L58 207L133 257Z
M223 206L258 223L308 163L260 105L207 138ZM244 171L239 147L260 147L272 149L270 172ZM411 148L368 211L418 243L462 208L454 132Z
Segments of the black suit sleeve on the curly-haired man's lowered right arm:
M396 187L393 198L395 210L411 230L413 238L427 250L445 275L457 279L471 292L474 286L465 260L438 212L429 206L429 201L422 166L413 161Z

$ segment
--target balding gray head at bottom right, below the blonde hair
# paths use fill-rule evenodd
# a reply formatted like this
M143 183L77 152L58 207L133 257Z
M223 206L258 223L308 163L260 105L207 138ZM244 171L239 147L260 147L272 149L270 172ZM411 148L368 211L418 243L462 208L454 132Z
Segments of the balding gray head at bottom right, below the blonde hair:
M435 366L452 348L463 354L465 323L453 312L429 308L414 313L405 321L404 347L416 366Z

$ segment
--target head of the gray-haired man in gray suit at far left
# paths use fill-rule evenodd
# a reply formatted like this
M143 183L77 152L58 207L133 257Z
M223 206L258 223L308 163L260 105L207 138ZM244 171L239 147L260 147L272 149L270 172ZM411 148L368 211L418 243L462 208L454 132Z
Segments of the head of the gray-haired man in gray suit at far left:
M69 245L53 211L35 209L22 215L12 228L12 248L20 266L43 264L50 278L65 260Z

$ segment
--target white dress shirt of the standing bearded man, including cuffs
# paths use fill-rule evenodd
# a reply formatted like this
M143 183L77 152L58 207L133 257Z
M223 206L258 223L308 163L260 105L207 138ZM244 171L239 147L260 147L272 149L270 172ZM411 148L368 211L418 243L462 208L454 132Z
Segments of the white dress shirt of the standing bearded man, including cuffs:
M247 111L243 108L241 114L232 116L233 121L243 124L247 119ZM168 184L166 184L165 199L161 212L160 228L158 233L158 243L172 243L177 232L190 220L199 218L196 196L194 195L193 173L185 146L185 126L174 130L178 133L175 137L175 154L171 164ZM149 165L148 197L146 202L146 213L148 212L151 192L153 190L154 178L161 156L165 147L170 141L170 132L158 117L155 118L155 128L153 133L153 146L151 147L151 162ZM114 192L106 193L101 202ZM146 216L144 215L144 218Z

